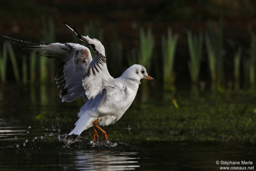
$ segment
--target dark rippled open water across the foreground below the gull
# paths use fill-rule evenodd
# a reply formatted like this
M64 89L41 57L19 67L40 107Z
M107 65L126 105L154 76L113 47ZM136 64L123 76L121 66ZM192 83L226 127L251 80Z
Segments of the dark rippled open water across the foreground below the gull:
M241 144L117 142L110 147L80 137L66 145L66 134L52 125L2 123L1 170L220 170L216 160L256 161L256 149Z

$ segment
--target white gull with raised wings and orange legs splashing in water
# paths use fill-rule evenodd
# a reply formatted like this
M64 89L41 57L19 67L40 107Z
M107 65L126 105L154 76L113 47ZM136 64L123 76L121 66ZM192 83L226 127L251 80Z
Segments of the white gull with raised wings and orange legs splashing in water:
M101 127L114 124L132 105L137 94L140 80L148 76L146 68L134 64L118 77L113 78L107 68L104 46L97 39L79 34L70 27L77 37L92 48L95 56L92 59L90 50L76 43L38 44L6 37L25 49L34 50L42 56L54 58L61 63L60 71L55 77L60 88L62 102L71 102L82 97L85 104L78 113L79 119L75 128L66 136L67 143L72 143L86 129L92 128L94 141L99 141L98 128L105 140L108 135ZM95 128L93 128L95 127Z

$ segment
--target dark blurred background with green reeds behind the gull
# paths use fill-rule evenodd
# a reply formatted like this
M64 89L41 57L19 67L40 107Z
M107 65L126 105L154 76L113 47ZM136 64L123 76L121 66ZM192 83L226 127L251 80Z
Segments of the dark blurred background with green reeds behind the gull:
M58 63L2 36L80 43L65 21L103 43L114 77L139 63L157 81L147 84L166 91L253 89L255 6L252 0L2 1L1 82L54 83Z

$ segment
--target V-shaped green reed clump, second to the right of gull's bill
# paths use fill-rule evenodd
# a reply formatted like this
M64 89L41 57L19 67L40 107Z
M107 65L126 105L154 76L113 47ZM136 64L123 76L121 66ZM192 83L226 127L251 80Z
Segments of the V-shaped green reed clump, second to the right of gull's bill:
M200 73L200 62L202 58L203 47L203 32L199 32L197 35L192 35L191 31L188 31L188 49L190 55L190 61L188 67L190 71L190 77L193 84L198 83Z

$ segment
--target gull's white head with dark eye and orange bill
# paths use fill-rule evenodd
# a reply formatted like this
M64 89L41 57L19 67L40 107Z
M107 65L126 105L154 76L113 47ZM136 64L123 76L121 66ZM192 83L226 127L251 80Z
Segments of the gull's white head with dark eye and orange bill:
M129 77L131 79L135 79L140 81L141 79L145 78L147 80L155 81L152 77L150 77L146 71L146 68L139 64L134 64L130 66L124 74L125 77Z

